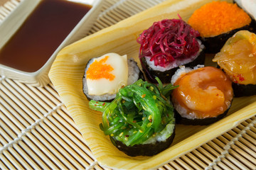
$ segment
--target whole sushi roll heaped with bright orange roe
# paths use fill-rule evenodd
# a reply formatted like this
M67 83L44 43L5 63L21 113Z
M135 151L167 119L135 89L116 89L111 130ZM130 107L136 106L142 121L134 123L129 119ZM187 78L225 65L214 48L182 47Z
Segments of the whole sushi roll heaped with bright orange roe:
M238 30L255 31L255 20L238 7L226 1L213 1L198 8L188 24L201 35L206 53L217 53L228 38Z

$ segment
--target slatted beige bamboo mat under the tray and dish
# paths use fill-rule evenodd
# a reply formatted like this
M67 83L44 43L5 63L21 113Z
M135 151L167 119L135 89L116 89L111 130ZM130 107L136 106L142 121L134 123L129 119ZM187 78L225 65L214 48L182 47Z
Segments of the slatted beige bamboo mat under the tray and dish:
M90 34L164 0L105 0ZM0 7L1 21L20 0ZM106 169L97 163L54 86L0 76L0 169ZM256 117L162 167L256 169Z

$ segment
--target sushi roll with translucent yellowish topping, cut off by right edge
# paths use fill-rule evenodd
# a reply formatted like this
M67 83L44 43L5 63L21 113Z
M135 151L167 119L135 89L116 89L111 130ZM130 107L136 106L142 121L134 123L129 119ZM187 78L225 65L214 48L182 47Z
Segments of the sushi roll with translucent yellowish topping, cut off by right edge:
M213 58L233 81L235 97L256 94L256 35L240 30Z

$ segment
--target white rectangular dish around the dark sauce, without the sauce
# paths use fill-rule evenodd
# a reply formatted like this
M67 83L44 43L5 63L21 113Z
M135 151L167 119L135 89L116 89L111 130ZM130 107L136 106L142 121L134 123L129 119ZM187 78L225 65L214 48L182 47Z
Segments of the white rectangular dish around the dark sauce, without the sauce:
M0 49L6 42L11 38L16 30L21 27L22 23L26 20L33 9L39 4L41 0L23 0L20 4L10 13L9 16L0 25ZM73 30L68 34L68 36L63 40L63 42L58 46L58 48L49 57L48 61L38 69L36 72L24 72L4 64L0 63L0 75L2 77L7 77L10 79L15 79L21 81L25 84L30 84L32 86L45 86L50 82L48 78L48 72L50 70L51 64L55 60L58 52L76 40L85 37L92 28L93 23L97 19L100 13L103 0L70 0L75 2L80 2L82 4L88 4L92 6L90 11L88 11L85 16L80 20L80 22L73 28ZM14 49L15 50L15 49Z

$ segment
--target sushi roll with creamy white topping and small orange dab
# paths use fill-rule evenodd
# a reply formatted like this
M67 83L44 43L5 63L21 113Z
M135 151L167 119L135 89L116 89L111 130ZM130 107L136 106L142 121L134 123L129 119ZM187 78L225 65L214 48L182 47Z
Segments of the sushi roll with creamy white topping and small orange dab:
M87 63L82 78L83 92L88 100L111 101L122 86L144 79L137 62L127 55L107 53Z

